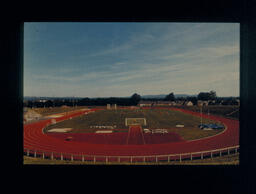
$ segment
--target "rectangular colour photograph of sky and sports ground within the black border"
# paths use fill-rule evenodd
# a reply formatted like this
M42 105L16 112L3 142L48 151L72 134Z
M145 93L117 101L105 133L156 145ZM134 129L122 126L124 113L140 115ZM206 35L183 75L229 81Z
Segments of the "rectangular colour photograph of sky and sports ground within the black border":
M24 29L23 161L239 163L238 23Z

